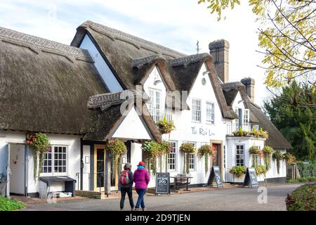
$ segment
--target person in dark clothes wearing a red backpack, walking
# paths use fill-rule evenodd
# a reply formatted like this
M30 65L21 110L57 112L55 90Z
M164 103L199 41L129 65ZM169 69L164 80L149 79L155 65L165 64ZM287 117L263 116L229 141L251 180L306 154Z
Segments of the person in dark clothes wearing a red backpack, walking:
M131 210L134 211L134 202L133 202L133 172L131 172L131 163L127 162L124 165L124 170L129 172L129 184L123 185L121 181L119 181L119 188L121 189L121 202L119 203L119 207L121 211L124 210L124 201L125 195L129 195L129 205L131 205ZM121 179L121 176L120 176Z

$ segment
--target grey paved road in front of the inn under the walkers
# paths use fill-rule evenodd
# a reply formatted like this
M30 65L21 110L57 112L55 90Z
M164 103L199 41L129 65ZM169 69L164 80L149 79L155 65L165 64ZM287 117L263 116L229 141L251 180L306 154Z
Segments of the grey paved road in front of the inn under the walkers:
M257 189L232 188L175 194L171 196L146 196L147 210L286 210L284 198L301 184L282 184L268 186L268 203L258 203ZM126 196L127 197L127 196ZM128 198L126 198L128 200ZM136 196L134 196L136 201ZM126 202L126 210L130 210ZM119 199L79 200L64 203L34 203L25 210L118 210Z

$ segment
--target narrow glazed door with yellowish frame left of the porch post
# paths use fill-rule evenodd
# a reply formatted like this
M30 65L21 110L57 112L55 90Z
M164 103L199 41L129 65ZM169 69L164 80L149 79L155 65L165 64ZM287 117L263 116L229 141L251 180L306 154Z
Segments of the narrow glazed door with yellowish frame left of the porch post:
M105 153L105 146L94 147L94 191L104 191Z

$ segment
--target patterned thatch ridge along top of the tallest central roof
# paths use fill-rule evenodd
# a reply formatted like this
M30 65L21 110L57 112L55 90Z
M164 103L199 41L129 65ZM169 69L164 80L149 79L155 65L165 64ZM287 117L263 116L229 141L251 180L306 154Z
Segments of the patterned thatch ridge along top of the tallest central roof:
M185 56L184 53L180 53L178 51L175 51L173 49L169 49L169 48L167 48L165 46L162 46L160 44L156 44L156 43L154 43L152 41L147 41L147 40L142 39L140 37L136 37L136 36L134 36L132 34L127 34L126 32L122 32L120 30L116 30L114 28L107 27L105 25L101 25L100 23L95 23L95 22L93 22L91 20L87 20L81 26L91 27L92 29L96 30L97 32L101 32L103 34L106 34L111 39L114 39L114 37L117 37L117 38L122 39L124 41L134 42L134 43L131 43L131 44L140 44L140 45L143 45L143 46L145 46L147 48L150 48L150 49L153 49L155 51L158 51L157 53L163 52L165 55L171 56L173 58L176 58L178 55Z

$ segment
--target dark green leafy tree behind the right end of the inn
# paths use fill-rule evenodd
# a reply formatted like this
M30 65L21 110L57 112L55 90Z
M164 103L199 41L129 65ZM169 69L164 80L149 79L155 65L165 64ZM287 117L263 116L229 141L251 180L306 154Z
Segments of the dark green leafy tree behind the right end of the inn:
M294 148L292 153L299 160L316 158L316 108L294 106L284 99L291 98L295 93L310 93L311 89L308 84L294 81L282 88L282 94L264 103L265 113L291 143ZM315 101L316 94L310 97L298 95L298 101L309 101L310 98Z

